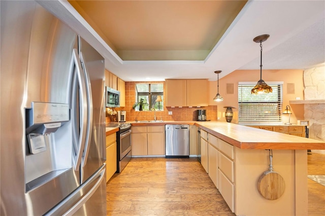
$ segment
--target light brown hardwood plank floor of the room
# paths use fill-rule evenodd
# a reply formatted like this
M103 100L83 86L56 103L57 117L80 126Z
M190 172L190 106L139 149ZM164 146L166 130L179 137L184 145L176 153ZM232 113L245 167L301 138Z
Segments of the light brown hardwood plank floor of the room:
M308 163L309 174L325 174L325 155ZM309 215L325 215L325 187L308 179L308 194ZM132 158L107 183L107 215L235 214L196 158Z

